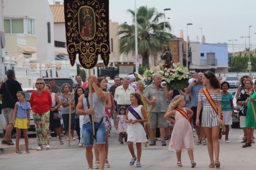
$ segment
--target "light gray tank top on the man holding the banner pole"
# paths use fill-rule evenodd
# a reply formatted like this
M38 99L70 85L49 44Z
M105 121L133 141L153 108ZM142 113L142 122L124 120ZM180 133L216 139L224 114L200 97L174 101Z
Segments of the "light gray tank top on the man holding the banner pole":
M88 96L88 100L90 104L90 94ZM102 117L104 116L105 104L100 100L100 98L97 96L95 92L92 93L92 101L93 101L93 111L94 111L94 122L99 123ZM85 110L88 109L86 98L84 98L83 100L83 106ZM83 124L88 123L89 121L90 121L90 116L84 115Z

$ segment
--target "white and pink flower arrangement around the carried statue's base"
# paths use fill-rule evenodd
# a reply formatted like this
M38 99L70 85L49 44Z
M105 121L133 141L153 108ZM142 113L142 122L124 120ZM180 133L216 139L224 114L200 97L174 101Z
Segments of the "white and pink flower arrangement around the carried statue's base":
M186 67L180 65L180 63L174 63L173 68L164 68L164 64L158 66L151 66L143 74L143 82L145 84L152 84L154 76L160 74L162 80L167 82L168 90L181 90L188 85L188 79L190 78L189 71Z

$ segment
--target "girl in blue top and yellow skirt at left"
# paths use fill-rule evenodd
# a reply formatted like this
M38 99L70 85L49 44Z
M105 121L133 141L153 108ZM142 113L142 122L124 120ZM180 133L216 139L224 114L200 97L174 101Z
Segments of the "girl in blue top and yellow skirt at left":
M16 102L13 114L13 123L16 127L16 154L23 154L19 148L19 142L21 137L21 131L26 144L26 154L30 154L28 150L28 128L30 127L30 103L26 102L25 94L23 91L17 92L18 102ZM16 119L16 120L15 120Z

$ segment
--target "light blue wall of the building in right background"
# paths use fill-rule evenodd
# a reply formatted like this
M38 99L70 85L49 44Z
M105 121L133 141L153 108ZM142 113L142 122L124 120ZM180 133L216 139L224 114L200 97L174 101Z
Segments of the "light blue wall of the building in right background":
M204 53L200 59L207 59L207 53L215 53L217 66L228 67L228 44L200 44L200 53Z

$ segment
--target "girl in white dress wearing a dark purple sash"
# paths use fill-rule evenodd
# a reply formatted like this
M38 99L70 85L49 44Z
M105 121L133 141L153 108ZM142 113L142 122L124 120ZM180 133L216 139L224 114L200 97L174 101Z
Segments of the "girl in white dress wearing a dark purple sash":
M141 143L147 142L146 133L144 130L144 123L148 121L146 110L143 107L143 102L140 98L140 94L132 93L130 94L130 102L132 106L127 107L125 122L129 123L127 128L128 133L128 148L132 154L132 160L130 161L130 166L133 166L136 161L136 156L134 154L133 143L136 143L138 160L136 167L140 167L140 157L141 157Z

